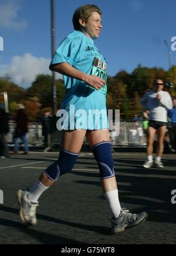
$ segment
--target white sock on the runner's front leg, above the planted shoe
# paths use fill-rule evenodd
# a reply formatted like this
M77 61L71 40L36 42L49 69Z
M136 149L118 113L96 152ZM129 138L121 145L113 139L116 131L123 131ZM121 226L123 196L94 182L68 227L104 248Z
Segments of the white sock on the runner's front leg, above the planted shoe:
M113 218L119 217L120 211L121 211L121 206L120 206L120 202L119 202L118 189L111 190L109 192L104 193L104 197L106 198L106 200L109 204L112 217Z

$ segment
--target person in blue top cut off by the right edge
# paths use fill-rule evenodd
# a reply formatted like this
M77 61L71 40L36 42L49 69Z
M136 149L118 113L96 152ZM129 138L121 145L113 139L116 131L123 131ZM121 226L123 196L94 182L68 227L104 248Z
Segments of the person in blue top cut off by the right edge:
M169 128L171 147L176 150L176 99L173 101L174 108L168 111L168 117L171 119L171 126Z

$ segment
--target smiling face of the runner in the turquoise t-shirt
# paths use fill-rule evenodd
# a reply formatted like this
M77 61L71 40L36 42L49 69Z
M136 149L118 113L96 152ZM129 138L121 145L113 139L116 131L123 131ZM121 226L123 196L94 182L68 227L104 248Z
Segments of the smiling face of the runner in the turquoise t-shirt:
M99 38L102 25L101 16L98 12L93 12L87 22L84 22L82 19L80 19L80 25L82 26L82 32L86 36L92 39Z

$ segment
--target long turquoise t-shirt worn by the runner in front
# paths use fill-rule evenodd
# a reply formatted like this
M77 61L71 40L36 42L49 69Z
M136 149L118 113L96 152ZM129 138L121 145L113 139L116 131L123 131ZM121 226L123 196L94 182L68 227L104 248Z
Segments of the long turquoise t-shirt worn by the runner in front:
M107 80L106 60L94 45L93 39L80 31L73 31L62 41L50 66L63 62L67 62L85 74L97 75ZM63 75L63 79L66 95L61 108L63 115L64 110L67 111L69 120L66 122L65 115L66 118L63 118L65 122L60 122L60 129L108 129L107 85L97 91L75 78Z

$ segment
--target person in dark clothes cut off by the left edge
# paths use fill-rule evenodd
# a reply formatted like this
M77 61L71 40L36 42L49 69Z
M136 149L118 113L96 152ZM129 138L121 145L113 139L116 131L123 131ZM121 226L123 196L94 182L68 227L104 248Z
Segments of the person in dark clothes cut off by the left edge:
M8 114L5 112L4 105L0 105L0 157L6 158L9 157L8 146L5 141L5 135L9 131L9 117Z

